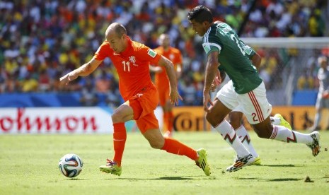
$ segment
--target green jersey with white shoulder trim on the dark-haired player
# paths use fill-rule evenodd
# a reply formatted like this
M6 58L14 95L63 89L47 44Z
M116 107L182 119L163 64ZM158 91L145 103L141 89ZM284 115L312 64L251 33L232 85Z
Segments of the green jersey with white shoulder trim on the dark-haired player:
M204 34L202 46L207 55L219 52L219 71L225 71L231 78L236 93L248 93L262 83L250 61L255 51L245 45L228 24L216 23L210 26Z

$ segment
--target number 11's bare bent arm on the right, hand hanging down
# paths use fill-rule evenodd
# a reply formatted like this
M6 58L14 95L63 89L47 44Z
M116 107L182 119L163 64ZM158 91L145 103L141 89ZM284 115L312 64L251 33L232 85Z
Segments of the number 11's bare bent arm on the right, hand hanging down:
M169 79L169 84L171 86L170 96L171 96L171 104L178 105L178 99L183 100L178 93L177 88L177 79L175 74L175 69L173 68L173 62L171 62L166 57L161 57L158 61L158 66L163 66L166 69L166 73Z

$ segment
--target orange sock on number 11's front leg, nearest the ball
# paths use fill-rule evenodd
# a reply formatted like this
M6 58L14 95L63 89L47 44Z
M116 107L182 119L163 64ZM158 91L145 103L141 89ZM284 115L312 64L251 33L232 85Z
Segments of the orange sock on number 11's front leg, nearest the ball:
M125 143L127 139L127 132L125 123L120 122L113 124L113 147L114 147L114 158L113 161L117 162L118 166L121 166L123 150L125 150Z

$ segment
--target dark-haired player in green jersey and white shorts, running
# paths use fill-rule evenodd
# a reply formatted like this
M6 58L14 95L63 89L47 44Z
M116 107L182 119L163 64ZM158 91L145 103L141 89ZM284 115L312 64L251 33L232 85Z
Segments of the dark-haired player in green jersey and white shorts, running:
M207 54L203 89L206 119L238 155L233 165L227 167L226 171L239 170L255 161L255 157L236 138L231 124L225 120L226 115L236 108L242 110L260 138L305 143L311 148L313 156L318 155L320 152L318 131L301 134L285 126L271 124L272 105L267 101L264 82L248 59L248 55L255 51L247 47L228 24L214 23L212 12L205 6L196 6L189 11L187 18L192 29L203 37L202 47ZM217 75L217 69L225 71L231 81L219 90L212 102L209 92Z

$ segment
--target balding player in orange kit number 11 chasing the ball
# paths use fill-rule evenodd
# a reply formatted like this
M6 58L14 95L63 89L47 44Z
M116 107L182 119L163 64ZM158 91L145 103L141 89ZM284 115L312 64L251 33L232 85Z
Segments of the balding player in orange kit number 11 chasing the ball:
M175 155L185 155L195 160L205 175L210 175L206 150L194 150L173 138L164 138L158 127L158 120L154 114L158 105L158 93L151 81L149 64L158 64L166 69L171 86L171 104L175 105L181 97L178 94L173 63L149 47L130 40L125 27L120 23L110 24L105 32L105 38L91 61L59 79L62 83L68 84L78 76L88 76L106 57L110 57L117 69L119 89L125 103L117 107L112 114L114 157L112 160L108 159L106 165L100 166L100 170L121 175L121 160L127 138L125 122L134 119L152 148L166 150Z

